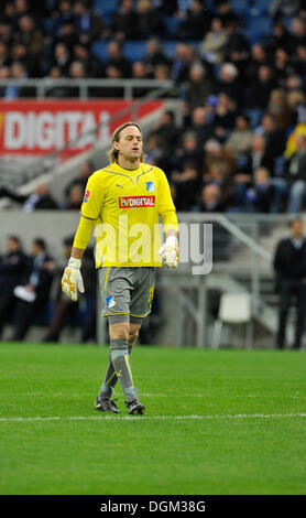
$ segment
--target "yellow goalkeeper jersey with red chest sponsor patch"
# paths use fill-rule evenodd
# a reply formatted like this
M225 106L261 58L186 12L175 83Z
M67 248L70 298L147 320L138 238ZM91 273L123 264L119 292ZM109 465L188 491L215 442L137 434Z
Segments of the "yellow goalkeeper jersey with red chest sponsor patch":
M89 177L81 216L95 222L96 267L160 267L160 216L164 231L178 229L165 173L141 163L133 171L112 163ZM79 227L74 246L84 248Z

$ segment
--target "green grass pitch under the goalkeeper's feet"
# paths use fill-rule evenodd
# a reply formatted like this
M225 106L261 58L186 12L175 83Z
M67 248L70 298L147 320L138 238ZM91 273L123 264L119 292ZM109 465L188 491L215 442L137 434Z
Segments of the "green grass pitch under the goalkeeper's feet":
M108 347L0 344L0 494L306 494L306 354L136 346L145 417L94 410Z

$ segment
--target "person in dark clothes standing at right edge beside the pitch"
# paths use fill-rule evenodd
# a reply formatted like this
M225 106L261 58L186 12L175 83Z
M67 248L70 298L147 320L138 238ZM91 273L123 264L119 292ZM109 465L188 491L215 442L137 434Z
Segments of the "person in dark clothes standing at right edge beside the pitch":
M282 239L275 251L273 267L276 274L276 291L280 293L278 332L276 346L285 346L288 310L293 299L297 312L294 348L298 349L305 324L306 310L306 238L303 222L291 220L291 237Z

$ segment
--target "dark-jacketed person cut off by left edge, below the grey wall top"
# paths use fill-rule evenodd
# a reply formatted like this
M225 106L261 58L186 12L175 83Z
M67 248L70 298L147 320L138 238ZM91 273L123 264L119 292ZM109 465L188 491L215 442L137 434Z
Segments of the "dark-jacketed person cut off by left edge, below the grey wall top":
M28 257L17 236L8 236L7 253L0 258L0 336L17 303L13 290L24 281Z

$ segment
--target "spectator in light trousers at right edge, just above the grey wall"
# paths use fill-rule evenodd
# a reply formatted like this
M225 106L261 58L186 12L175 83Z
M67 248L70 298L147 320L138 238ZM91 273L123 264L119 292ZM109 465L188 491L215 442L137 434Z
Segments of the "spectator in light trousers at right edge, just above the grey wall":
M296 136L297 151L287 163L286 177L289 184L288 213L298 214L306 194L306 136Z

